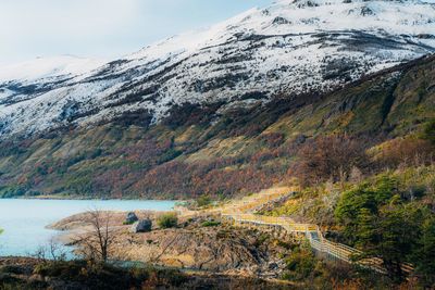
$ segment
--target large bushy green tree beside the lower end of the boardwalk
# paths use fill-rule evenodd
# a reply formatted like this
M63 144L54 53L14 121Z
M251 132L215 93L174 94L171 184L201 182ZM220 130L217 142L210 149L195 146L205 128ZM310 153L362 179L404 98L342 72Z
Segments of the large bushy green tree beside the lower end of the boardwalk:
M388 276L401 281L405 278L401 266L411 262L418 249L417 243L422 235L421 224L427 209L414 203L406 204L396 191L395 179L381 177L373 185L364 184L345 192L335 215L344 226L347 241L363 251L356 259L380 257ZM426 243L431 241L427 237L432 237L431 232L426 234ZM430 243L425 249L432 247ZM422 269L431 273L431 266L427 262L422 265Z

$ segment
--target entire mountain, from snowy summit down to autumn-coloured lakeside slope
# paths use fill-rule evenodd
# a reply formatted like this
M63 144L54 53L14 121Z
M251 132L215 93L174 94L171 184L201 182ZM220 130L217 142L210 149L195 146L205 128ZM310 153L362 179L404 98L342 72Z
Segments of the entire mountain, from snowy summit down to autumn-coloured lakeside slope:
M319 135L417 136L435 117L434 10L281 0L107 64L5 67L0 197L225 198L288 182Z

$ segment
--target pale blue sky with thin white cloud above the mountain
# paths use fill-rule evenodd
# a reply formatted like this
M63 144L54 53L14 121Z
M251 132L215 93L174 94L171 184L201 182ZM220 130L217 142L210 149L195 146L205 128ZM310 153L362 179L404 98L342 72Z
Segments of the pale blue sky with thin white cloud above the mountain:
M77 55L111 60L272 0L0 0L0 65Z

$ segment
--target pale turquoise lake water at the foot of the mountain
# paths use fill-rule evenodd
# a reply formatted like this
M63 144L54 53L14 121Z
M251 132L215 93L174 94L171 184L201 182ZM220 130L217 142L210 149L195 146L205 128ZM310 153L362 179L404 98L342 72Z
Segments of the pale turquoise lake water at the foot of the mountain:
M153 210L169 211L174 201L120 200L1 200L0 199L0 256L27 256L47 245L59 232L46 226L73 214L92 209L111 211Z

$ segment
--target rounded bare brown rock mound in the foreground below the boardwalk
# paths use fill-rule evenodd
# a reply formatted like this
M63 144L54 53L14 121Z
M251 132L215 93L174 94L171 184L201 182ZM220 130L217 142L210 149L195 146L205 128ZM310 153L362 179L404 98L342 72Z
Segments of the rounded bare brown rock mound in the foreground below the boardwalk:
M276 278L286 250L274 238L254 229L187 227L129 235L117 254L132 261L224 274Z

